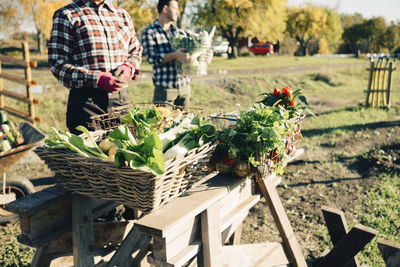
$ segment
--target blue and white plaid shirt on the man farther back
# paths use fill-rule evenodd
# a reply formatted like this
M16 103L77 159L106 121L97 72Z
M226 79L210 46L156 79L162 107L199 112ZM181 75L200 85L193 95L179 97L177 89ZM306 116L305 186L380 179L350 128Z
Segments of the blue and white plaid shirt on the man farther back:
M169 32L158 23L158 19L142 33L143 53L153 66L153 83L165 88L180 88L190 83L189 76L178 73L175 60L164 63L165 54L172 53L171 37L178 29L171 25Z

